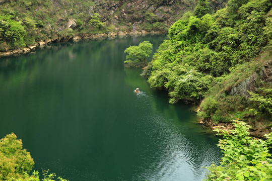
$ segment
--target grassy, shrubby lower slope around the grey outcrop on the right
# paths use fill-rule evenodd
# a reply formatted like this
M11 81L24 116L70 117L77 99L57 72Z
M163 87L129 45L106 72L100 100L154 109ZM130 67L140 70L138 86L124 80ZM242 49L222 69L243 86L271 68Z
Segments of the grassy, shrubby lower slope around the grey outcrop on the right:
M262 69L263 65L271 59L272 49L267 46L254 61L246 62L233 67L229 74L218 77L209 95L200 105L200 112L197 115L201 118L212 119L215 123L229 122L231 119L239 118L249 122L258 129L269 129L271 126L271 99L269 90L271 83L259 79L255 82L259 87L255 93L248 94L249 99L243 95L230 95L232 87L245 83L245 79L254 72ZM214 100L214 102L209 100ZM264 106L265 105L265 106ZM262 122L258 124L258 122Z

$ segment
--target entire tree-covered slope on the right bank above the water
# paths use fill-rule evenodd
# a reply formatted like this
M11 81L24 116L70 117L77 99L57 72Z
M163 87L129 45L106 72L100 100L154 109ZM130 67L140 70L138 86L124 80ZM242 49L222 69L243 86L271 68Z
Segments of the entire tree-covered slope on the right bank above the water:
M206 120L218 123L241 117L269 125L271 1L230 0L215 14L206 14L207 1L198 2L194 13L184 14L170 27L169 40L161 44L143 75L152 87L169 91L170 103L202 101L198 115ZM231 91L252 74L253 83L249 86L247 81L240 88L244 94Z

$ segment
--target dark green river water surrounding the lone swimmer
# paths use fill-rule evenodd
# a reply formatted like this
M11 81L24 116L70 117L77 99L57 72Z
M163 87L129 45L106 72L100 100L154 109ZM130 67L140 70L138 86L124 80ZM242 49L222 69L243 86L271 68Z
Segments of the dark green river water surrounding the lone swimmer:
M201 180L218 141L188 105L168 104L123 51L165 36L52 44L0 58L0 136L14 132L35 161L74 180ZM140 88L141 93L133 90Z

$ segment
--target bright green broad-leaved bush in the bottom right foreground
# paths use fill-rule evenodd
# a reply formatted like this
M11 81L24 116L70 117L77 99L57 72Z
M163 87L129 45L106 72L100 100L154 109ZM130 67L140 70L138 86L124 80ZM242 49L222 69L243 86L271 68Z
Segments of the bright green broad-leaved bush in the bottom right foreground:
M224 139L219 140L223 157L220 166L209 167L208 178L212 180L260 180L272 179L272 159L269 148L272 144L272 133L265 135L267 140L252 138L250 126L239 120L233 120L235 129L215 129Z

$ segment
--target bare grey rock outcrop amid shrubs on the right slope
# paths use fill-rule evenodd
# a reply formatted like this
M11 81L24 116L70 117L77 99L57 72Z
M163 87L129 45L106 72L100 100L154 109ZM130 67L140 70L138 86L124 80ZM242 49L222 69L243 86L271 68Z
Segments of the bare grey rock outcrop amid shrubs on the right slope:
M247 91L256 92L257 88L255 87L256 80L257 80L257 73L253 73L250 77L246 78L242 81L239 85L233 87L230 91L230 95L239 95L245 98L249 98L250 95Z

